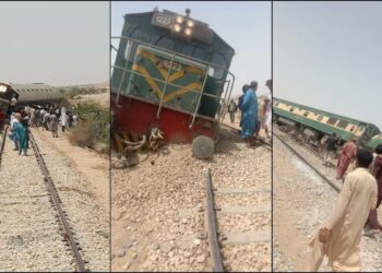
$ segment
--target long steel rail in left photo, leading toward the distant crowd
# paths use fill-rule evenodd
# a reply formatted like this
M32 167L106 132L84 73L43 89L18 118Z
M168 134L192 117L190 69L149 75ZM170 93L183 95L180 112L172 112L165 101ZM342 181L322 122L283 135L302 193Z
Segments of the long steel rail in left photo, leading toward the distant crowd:
M61 199L59 197L59 193L55 187L55 183L50 177L49 170L44 162L43 155L39 152L38 145L37 145L31 131L29 131L29 136L31 136L29 139L31 139L33 150L35 151L35 156L37 158L37 163L38 163L40 170L44 175L45 185L47 186L47 189L48 189L50 197L51 197L51 203L53 204L55 209L57 210L59 219L63 226L63 230L64 230L63 238L69 244L69 246L73 252L77 271L79 272L86 272L85 261L82 259L82 256L80 253L81 247L79 246L79 244L74 239L73 233L71 230L71 226L67 219L67 215L65 215L67 213L62 209L62 205L61 205L62 202L61 202Z

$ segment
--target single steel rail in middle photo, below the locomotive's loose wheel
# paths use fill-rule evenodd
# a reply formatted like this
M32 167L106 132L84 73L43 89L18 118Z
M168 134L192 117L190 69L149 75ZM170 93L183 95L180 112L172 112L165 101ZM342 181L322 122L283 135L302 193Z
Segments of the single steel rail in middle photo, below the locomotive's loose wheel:
M214 272L224 272L220 249L217 240L216 214L214 210L214 197L212 192L212 178L210 169L205 180L206 189L206 221L210 241L210 253Z

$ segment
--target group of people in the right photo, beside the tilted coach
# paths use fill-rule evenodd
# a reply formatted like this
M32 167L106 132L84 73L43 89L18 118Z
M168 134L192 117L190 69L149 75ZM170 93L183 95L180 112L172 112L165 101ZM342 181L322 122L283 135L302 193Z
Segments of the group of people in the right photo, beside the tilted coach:
M339 138L332 134L326 144L324 164L335 153ZM333 271L360 271L360 239L382 232L377 209L382 202L382 144L374 153L357 147L357 139L346 142L337 161L336 178L343 188L329 218L312 238L307 271L318 271L324 256ZM345 176L351 162L356 168Z

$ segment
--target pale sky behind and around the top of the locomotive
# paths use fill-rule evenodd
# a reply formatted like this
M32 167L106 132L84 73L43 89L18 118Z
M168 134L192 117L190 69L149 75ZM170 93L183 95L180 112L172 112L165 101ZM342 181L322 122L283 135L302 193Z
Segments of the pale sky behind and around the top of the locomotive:
M111 35L121 35L126 13L153 11L155 7L180 14L191 9L191 17L207 23L235 49L230 67L236 76L234 93L241 94L242 85L252 80L259 82L259 95L268 92L265 81L271 79L271 2L111 2Z

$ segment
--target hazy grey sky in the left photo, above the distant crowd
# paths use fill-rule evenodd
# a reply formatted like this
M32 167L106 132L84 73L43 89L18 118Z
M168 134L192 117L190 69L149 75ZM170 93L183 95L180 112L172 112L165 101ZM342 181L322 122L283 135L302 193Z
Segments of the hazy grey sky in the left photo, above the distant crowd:
M109 2L0 2L0 82L109 79Z

